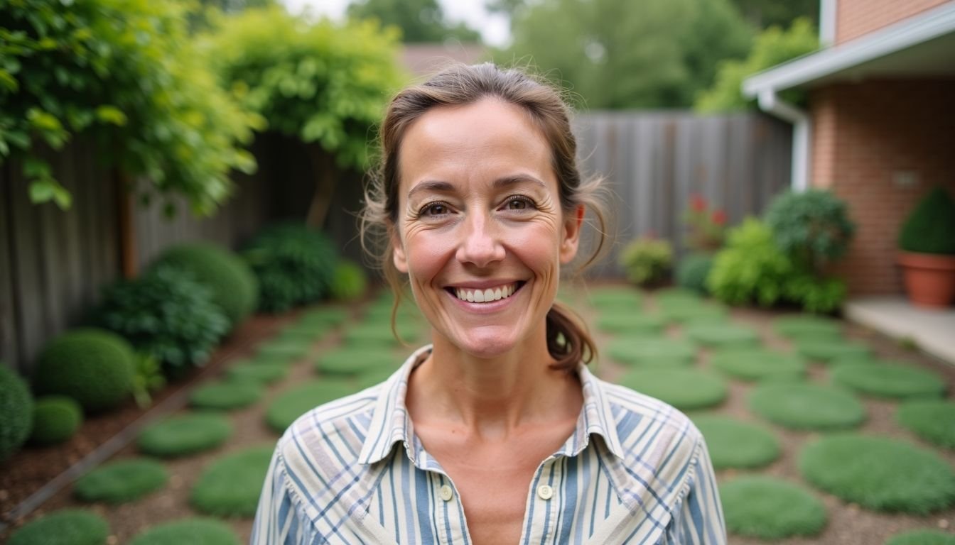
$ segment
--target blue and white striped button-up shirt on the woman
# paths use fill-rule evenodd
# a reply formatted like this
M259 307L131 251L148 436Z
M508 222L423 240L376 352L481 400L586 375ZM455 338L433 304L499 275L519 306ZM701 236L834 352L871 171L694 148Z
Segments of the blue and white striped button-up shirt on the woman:
M385 383L311 409L275 449L253 545L470 544L454 483L405 407L417 350ZM574 434L535 472L520 543L726 542L699 430L668 405L579 369Z

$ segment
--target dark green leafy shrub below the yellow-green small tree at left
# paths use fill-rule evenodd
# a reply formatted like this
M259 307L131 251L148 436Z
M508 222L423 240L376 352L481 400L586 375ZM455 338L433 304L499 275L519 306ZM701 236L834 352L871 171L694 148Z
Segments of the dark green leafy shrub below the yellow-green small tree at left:
M266 227L243 256L259 279L259 307L268 312L322 300L329 294L338 261L325 235L295 223Z

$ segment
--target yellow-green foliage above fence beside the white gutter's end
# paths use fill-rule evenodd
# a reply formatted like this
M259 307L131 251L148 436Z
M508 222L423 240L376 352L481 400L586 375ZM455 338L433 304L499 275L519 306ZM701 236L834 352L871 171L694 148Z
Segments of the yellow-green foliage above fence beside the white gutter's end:
M782 6L784 3L777 4ZM809 19L800 17L785 31L780 27L770 27L756 36L753 49L745 60L728 59L718 64L712 86L697 96L694 106L697 111L705 113L755 108L754 100L743 97L744 79L814 52L818 47L816 27ZM802 95L798 92L784 92L782 97L788 102L802 102Z

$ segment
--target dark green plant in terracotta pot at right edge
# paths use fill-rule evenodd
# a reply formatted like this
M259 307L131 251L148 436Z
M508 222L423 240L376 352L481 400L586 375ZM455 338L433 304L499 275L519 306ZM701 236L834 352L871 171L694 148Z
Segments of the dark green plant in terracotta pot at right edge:
M902 223L899 263L913 304L942 307L955 298L955 200L935 187Z

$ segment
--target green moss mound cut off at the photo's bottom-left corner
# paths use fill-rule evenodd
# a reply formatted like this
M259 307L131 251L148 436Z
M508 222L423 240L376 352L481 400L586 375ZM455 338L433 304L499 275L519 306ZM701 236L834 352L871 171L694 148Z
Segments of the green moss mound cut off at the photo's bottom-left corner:
M98 514L63 509L45 514L13 532L8 545L104 545L110 525Z

